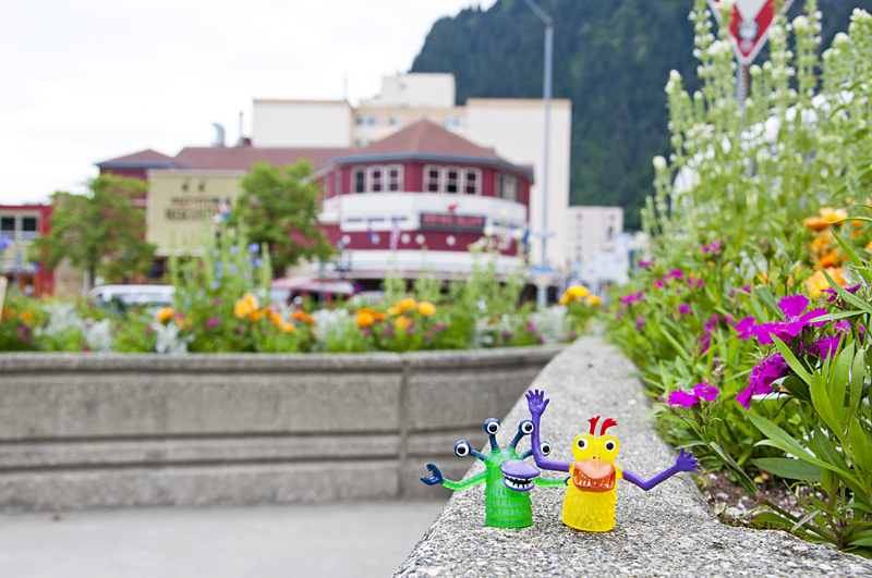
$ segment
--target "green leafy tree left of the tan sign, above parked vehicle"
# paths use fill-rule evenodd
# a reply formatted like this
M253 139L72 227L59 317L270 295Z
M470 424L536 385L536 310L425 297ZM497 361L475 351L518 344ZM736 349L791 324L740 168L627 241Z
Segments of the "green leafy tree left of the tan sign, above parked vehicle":
M88 183L89 193L52 195L50 231L33 245L32 258L43 259L49 270L64 257L83 269L86 290L97 275L120 280L144 273L154 258L155 245L145 241L145 212L134 208L148 186L137 179L104 174Z

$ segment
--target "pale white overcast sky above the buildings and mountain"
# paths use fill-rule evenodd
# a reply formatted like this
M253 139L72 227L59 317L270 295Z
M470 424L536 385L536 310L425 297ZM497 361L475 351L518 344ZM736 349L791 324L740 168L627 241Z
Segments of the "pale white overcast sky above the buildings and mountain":
M252 99L378 94L431 26L496 0L23 0L0 19L0 205L84 192L95 162L251 134Z

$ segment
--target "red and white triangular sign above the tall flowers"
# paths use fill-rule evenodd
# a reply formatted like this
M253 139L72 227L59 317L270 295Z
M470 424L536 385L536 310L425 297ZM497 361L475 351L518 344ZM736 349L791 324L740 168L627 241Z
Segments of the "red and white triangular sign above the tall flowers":
M729 35L732 39L732 51L739 64L751 64L770 34L770 25L775 19L775 7L782 4L787 11L794 0L735 0L729 15ZM708 5L718 22L722 21L720 0L708 0Z

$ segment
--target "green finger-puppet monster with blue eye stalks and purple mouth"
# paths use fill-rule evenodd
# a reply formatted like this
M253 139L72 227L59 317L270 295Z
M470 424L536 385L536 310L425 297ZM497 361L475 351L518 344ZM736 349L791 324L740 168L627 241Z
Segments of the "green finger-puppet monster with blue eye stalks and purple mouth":
M476 452L465 440L455 444L455 454L460 457L475 456L484 463L485 470L462 481L451 481L443 477L439 468L427 464L427 469L433 474L428 478L421 478L427 485L440 483L449 490L465 490L475 484L485 482L485 524L494 528L524 528L533 524L533 508L530 502L530 490L533 485L566 485L566 480L546 480L540 478L540 470L524 458L533 454L529 450L518 455L518 442L524 435L533 433L533 422L529 419L521 421L518 433L512 438L507 450L501 450L497 444L499 421L488 419L484 422L484 431L491 439L491 453L485 455ZM550 453L548 442L542 442L538 452L543 455Z

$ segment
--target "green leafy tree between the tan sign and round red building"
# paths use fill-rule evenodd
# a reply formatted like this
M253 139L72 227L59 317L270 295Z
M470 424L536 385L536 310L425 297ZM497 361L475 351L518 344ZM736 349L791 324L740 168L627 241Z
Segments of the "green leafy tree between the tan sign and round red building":
M242 180L242 189L228 224L266 243L277 270L334 254L318 222L320 185L306 161L281 169L258 162Z

